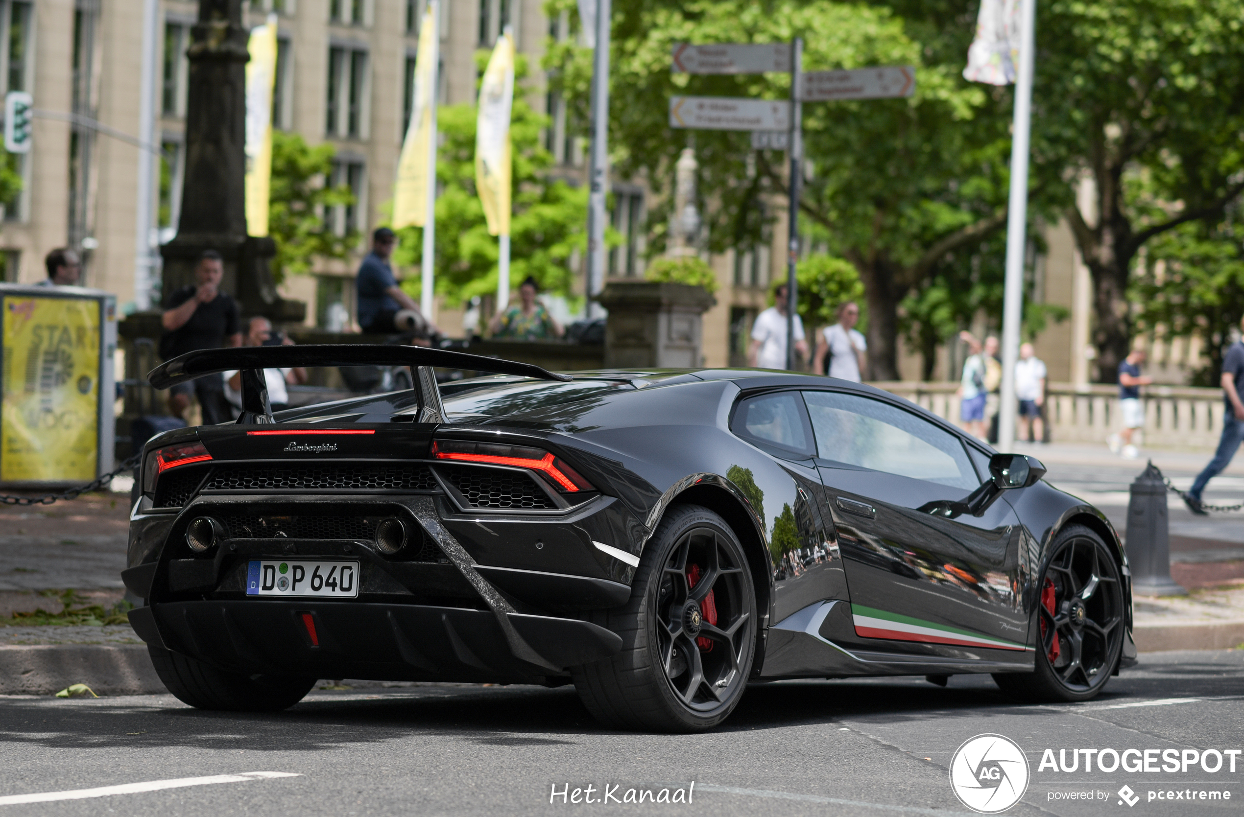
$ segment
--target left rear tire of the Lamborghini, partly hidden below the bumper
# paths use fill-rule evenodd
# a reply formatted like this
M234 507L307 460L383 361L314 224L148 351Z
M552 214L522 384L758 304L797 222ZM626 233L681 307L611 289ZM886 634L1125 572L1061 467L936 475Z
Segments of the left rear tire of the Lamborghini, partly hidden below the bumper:
M197 709L275 713L289 709L315 686L315 678L226 673L200 660L147 645L156 674L168 691Z

